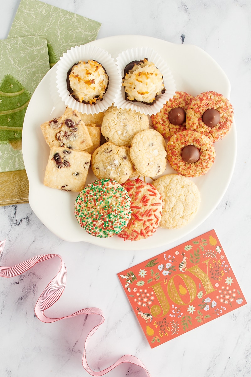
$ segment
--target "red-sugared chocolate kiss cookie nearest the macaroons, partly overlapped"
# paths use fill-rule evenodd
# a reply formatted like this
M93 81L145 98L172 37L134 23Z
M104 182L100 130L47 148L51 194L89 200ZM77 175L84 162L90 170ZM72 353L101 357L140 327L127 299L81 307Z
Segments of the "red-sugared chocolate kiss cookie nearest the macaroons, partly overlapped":
M186 130L186 112L193 98L186 92L175 92L160 112L151 115L152 127L167 140L176 132Z

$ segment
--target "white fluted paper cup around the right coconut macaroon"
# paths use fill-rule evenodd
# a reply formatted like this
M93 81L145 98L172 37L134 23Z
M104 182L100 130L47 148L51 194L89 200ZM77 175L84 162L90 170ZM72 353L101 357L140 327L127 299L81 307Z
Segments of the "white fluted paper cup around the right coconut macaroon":
M131 102L125 100L125 90L122 86L122 77L124 76L125 66L133 60L140 60L148 58L148 61L152 61L155 66L160 70L163 75L164 87L166 92L158 95L154 104L146 105L140 102ZM157 114L166 101L170 100L175 95L176 86L173 79L172 73L165 63L165 61L157 54L153 49L149 47L138 47L133 49L128 49L121 52L117 59L117 66L120 73L120 90L117 92L117 95L114 100L114 106L121 109L131 109L141 114L146 115L155 115Z

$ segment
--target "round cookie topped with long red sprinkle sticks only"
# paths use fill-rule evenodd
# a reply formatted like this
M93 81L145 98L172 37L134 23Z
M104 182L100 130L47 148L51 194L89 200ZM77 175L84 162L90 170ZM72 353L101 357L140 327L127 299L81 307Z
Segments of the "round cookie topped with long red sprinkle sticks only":
M138 241L152 236L162 216L163 203L160 193L152 184L139 178L128 180L122 186L131 198L132 217L118 237L125 241Z

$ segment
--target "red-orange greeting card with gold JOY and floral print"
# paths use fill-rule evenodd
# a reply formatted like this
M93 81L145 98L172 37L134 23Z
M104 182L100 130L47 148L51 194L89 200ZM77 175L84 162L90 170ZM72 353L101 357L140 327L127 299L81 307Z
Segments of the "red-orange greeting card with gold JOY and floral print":
M151 348L246 304L214 230L117 275Z

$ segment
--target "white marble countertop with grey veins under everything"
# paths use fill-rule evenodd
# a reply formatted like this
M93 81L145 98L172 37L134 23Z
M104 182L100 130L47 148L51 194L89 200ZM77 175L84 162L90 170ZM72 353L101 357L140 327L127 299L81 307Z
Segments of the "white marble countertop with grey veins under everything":
M60 254L67 284L48 310L63 317L82 308L98 307L105 322L87 348L90 368L100 371L124 354L138 357L152 377L244 377L251 375L251 312L249 237L251 225L251 3L156 0L50 0L51 5L84 15L102 26L98 38L146 35L176 44L193 44L222 67L231 83L230 101L237 129L237 159L227 192L211 215L180 240L152 250L112 250L86 242L62 241L48 230L29 204L0 207L0 240L6 239L2 266L37 254ZM0 38L7 38L19 1L0 1ZM217 183L217 182L216 182ZM116 274L165 250L213 229L248 302L170 342L151 349L131 310ZM37 319L34 307L55 276L57 261L38 264L20 276L0 278L0 375L3 377L88 376L82 352L90 324L79 316L51 324ZM132 375L122 365L109 376ZM133 375L143 376L138 369Z

